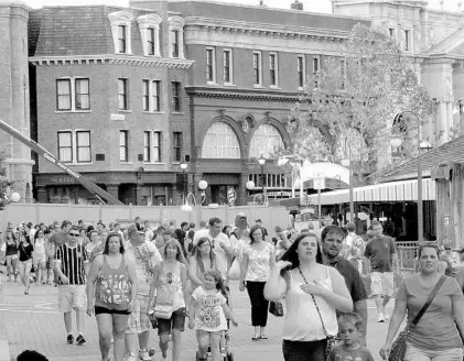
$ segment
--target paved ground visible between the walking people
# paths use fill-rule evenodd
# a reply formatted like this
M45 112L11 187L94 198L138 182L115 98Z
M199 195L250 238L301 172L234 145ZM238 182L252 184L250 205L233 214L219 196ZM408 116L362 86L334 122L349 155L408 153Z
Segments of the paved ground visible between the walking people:
M0 325L3 318L6 336L10 342L11 360L24 349L35 349L51 361L98 361L98 333L95 318L86 316L85 336L87 344L67 346L63 316L57 311L57 288L52 286L32 286L25 296L18 283L3 283L3 299L0 302ZM234 308L239 326L230 330L231 351L235 360L253 361L259 355L266 361L281 361L282 320L270 315L267 328L268 340L251 341L249 300L246 293L239 293L233 285ZM388 324L377 324L374 304L369 300L368 344L376 360L378 350L385 340ZM73 319L73 321L75 321ZM1 327L0 327L1 342ZM151 338L151 344L158 343L158 337ZM158 344L157 344L158 350ZM183 333L181 361L194 360L196 339L194 332L186 329ZM0 343L1 351L1 343ZM158 357L155 355L157 360ZM171 359L171 358L170 358ZM3 361L0 355L0 361Z

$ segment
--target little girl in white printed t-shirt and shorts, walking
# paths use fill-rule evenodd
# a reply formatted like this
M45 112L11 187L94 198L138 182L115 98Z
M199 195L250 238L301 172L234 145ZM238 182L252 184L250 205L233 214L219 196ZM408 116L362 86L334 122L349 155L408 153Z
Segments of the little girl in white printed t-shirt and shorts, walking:
M209 346L213 361L219 361L222 359L219 343L223 332L227 330L227 319L237 326L223 292L224 284L220 273L209 271L204 275L203 285L192 294L188 328L194 329L196 326L201 361L206 360Z

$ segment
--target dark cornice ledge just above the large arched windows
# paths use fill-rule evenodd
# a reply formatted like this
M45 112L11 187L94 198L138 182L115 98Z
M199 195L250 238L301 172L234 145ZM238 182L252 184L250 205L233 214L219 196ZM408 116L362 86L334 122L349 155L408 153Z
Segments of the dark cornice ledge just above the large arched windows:
M185 87L188 95L199 98L212 99L245 99L245 100L271 100L281 102L295 102L302 92L283 92L271 90L249 90L249 89L224 89L209 87Z

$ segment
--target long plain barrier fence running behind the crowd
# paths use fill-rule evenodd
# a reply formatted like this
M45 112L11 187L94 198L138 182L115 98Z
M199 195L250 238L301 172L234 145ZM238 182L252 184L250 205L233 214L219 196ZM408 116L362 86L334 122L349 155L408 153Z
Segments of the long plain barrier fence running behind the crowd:
M174 206L95 206L95 205L52 205L52 204L10 204L0 210L0 230L4 230L9 221L14 226L20 222L44 222L51 225L54 221L61 222L64 219L76 222L83 219L86 225L96 225L101 220L105 225L117 221L122 227L132 222L136 217L149 220L153 226L162 221L172 221L180 227L181 222L195 222L198 227L201 220L208 221L212 217L218 217L224 225L234 225L237 214L247 215L248 223L252 226L256 219L262 220L268 231L272 234L273 228L280 226L287 228L289 212L285 207L268 206L240 206L228 207L217 206L193 207L192 211L182 211L181 207Z

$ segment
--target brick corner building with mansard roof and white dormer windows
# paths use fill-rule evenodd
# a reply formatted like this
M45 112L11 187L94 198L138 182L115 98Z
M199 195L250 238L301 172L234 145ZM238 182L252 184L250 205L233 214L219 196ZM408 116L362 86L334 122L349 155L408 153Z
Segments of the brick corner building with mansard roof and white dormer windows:
M60 160L126 204L179 203L188 161L184 21L153 10L45 7L29 21L33 135ZM40 203L93 203L37 160Z

